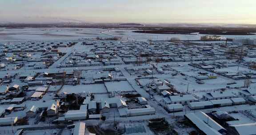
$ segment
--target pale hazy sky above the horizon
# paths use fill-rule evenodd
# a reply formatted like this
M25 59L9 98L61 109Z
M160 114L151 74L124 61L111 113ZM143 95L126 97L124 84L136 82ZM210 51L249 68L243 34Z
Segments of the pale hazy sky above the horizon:
M0 22L256 24L256 0L0 0Z

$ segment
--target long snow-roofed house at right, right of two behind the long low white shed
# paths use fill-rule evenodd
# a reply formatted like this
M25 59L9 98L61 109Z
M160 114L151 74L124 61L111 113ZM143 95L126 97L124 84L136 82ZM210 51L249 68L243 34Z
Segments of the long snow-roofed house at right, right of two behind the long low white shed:
M205 100L232 99L237 98L231 91L210 92L203 95Z

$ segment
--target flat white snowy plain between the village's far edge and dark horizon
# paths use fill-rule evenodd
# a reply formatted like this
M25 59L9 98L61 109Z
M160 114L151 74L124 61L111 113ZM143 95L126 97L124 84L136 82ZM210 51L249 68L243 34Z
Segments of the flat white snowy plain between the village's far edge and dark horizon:
M0 28L1 41L20 40L41 40L41 41L61 41L61 40L81 40L83 38L107 38L119 36L125 40L169 40L178 37L180 40L199 40L198 35L182 34L145 34L135 33L132 29L101 29L101 28ZM244 37L256 38L252 36L223 36L228 38Z

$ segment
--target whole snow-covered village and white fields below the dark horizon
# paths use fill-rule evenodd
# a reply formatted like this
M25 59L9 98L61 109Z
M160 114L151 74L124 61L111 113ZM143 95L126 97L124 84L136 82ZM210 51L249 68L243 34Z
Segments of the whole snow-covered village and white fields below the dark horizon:
M245 39L1 30L0 135L256 133L256 46Z

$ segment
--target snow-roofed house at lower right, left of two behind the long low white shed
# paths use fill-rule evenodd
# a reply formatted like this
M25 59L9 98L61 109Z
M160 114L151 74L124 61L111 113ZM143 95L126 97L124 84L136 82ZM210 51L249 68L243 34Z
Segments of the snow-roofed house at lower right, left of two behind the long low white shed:
M174 95L174 96L169 96L169 99L171 100L171 104L187 104L187 103L192 103L198 101L193 95Z

